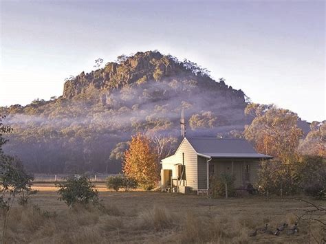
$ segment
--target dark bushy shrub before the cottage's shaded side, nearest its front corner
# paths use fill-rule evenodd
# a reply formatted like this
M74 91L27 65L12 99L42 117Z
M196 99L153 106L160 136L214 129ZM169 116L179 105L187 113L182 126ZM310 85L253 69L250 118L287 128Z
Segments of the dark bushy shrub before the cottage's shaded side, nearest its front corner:
M235 177L228 173L221 173L219 177L210 177L210 195L212 197L226 196L226 185L228 186L228 196L235 196Z

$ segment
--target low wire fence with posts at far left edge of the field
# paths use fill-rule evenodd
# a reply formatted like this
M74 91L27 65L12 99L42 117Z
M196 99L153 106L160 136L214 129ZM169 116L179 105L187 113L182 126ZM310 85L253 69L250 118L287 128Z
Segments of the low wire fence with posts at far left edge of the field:
M47 175L47 174L34 174L34 182L55 182L65 181L65 178L74 174L58 174L58 175ZM75 174L78 176L78 174ZM104 182L107 177L113 174L93 174L88 175L89 179L93 182Z

